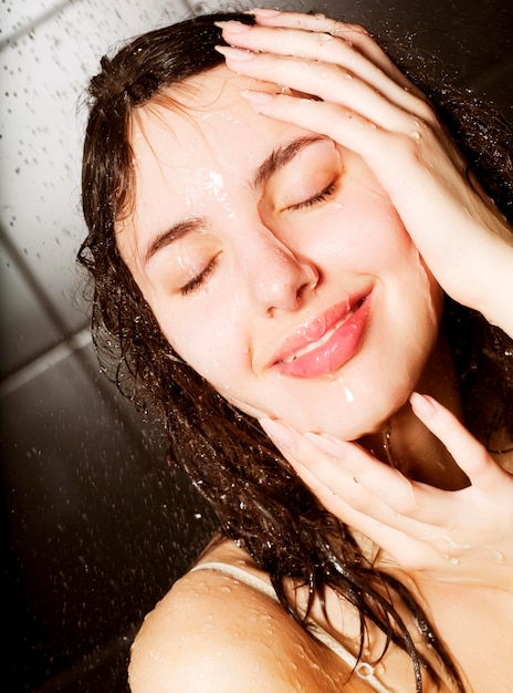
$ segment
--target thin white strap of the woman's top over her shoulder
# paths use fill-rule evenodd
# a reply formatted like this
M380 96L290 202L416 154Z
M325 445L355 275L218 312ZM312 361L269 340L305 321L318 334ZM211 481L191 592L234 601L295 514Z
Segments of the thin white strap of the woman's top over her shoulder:
M223 563L220 561L210 561L205 563L199 563L195 566L191 570L217 570L218 572L222 572L226 576L234 578L248 587L251 587L259 592L263 592L274 601L279 601L276 592L272 588L269 582L262 580L258 576L240 568L239 566L232 566L230 563ZM355 673L364 679L377 693L392 693L390 689L387 689L383 685L374 673L374 666L368 664L367 662L363 662L362 660L358 662L356 658L348 652L335 638L329 635L325 630L323 630L316 623L308 624L310 629L315 633L315 637L321 640L332 652L341 658L350 669L355 671Z

